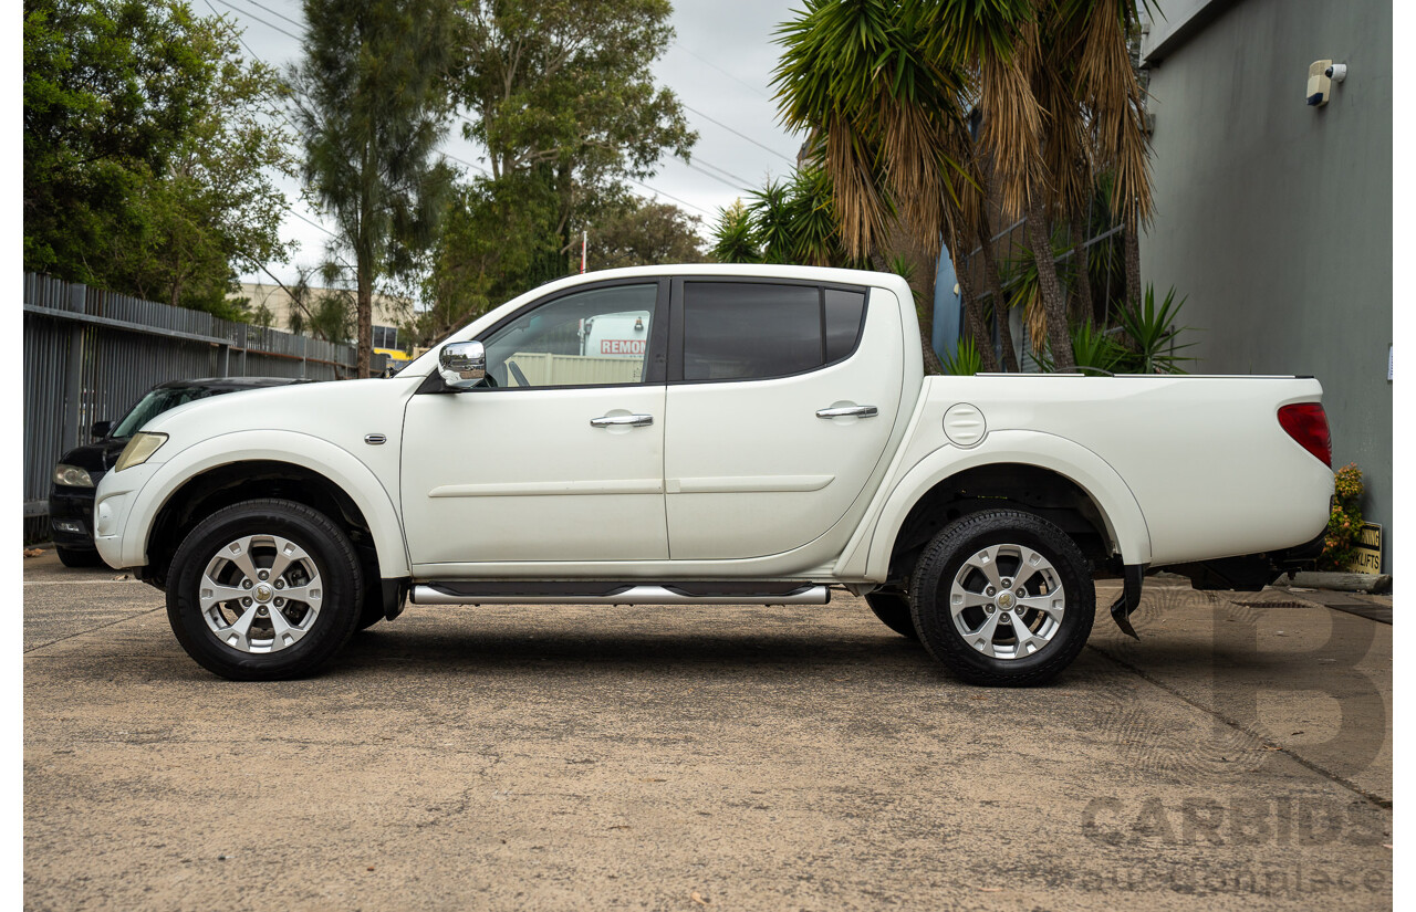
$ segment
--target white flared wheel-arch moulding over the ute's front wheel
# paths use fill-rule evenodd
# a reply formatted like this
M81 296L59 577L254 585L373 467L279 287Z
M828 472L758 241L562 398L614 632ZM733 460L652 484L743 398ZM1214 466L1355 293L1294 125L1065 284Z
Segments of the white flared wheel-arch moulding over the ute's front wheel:
M239 454L234 460L232 454ZM404 525L388 491L378 477L348 451L334 444L295 431L236 431L187 447L171 461L160 464L147 482L135 492L123 536L123 566L147 563L147 542L157 513L169 498L195 475L232 462L272 461L299 465L329 478L343 489L368 522L378 550L379 577L409 575ZM119 475L122 478L122 475ZM118 493L118 492L115 492Z

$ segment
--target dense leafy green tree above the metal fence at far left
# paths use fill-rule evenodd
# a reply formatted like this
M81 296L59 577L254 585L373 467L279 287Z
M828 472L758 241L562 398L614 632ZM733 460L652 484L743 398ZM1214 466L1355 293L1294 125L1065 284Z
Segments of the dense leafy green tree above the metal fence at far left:
M180 0L28 0L24 264L238 317L236 271L283 262L279 82Z

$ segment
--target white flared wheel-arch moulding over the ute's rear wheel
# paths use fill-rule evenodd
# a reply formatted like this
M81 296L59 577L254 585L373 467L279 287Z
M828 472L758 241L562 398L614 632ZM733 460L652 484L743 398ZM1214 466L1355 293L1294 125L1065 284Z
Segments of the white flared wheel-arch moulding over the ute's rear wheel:
M895 537L910 508L935 485L970 468L994 464L1024 464L1045 468L1079 485L1102 512L1106 532L1126 564L1148 564L1150 532L1136 495L1102 457L1086 447L1039 431L993 431L970 450L944 445L916 462L893 485L874 522L865 566L860 567L860 547L843 557L837 574L885 580Z

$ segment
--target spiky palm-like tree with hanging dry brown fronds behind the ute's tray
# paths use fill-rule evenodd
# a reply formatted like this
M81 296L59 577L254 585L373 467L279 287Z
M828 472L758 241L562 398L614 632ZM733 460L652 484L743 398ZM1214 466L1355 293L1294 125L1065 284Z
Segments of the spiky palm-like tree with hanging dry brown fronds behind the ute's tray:
M1148 165L1126 44L1136 18L1134 0L809 0L779 31L775 82L786 124L823 136L847 253L902 226L936 255L946 245L963 276L970 249L988 245L984 187L1005 214L1027 215L1035 250L1051 250L1051 218L1070 222L1097 168L1114 180L1113 215L1141 223ZM964 281L960 291L977 335L977 294ZM1038 291L1058 369L1069 370L1062 284L1045 256Z

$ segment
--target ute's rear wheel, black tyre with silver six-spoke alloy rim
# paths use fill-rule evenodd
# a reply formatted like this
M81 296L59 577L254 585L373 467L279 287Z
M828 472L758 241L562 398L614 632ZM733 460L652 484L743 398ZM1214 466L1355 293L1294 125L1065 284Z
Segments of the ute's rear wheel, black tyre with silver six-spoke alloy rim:
M974 684L1041 684L1069 666L1096 615L1086 559L1055 525L1020 510L964 516L910 577L920 642Z

